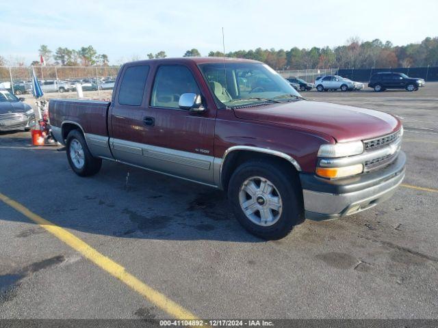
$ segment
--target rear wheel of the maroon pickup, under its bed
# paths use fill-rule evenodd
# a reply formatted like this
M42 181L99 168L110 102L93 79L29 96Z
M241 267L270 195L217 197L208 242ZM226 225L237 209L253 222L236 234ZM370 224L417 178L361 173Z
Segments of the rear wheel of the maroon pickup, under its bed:
M92 156L79 130L68 133L66 153L70 167L78 176L93 176L101 169L102 160Z

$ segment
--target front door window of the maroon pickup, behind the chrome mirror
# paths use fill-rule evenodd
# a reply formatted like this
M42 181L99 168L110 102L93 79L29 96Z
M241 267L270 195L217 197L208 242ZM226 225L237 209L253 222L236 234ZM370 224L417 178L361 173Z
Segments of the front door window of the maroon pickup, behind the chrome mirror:
M192 72L181 65L160 66L155 76L151 106L179 108L181 94L200 94Z

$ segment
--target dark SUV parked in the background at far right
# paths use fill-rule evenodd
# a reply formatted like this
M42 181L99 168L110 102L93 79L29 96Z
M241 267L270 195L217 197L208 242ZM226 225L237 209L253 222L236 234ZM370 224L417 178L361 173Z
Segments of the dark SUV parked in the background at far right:
M406 89L407 91L417 91L419 87L424 86L424 79L415 79L408 77L403 73L382 72L374 74L368 87L374 91L381 92L387 89Z

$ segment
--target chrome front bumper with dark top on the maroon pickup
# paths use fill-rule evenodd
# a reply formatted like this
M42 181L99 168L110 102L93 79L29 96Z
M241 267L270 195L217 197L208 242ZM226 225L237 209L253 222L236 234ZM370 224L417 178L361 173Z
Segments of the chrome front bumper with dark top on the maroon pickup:
M350 183L346 184L332 183L330 186L323 186L324 182L321 180L309 182L309 177L301 178L305 217L316 221L337 219L359 213L387 200L404 178L405 162L406 155L400 152L396 161L379 170L381 172L362 178L351 178Z

